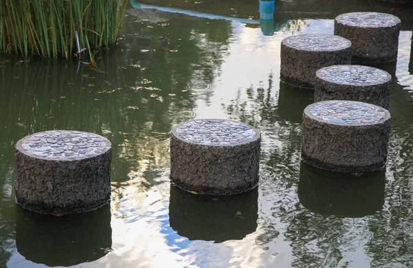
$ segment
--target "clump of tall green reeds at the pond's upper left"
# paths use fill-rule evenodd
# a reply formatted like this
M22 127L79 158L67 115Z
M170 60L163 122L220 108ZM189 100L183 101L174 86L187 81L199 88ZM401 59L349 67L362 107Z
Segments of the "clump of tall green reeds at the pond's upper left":
M79 49L109 48L118 39L127 3L129 0L1 0L0 52L67 59Z

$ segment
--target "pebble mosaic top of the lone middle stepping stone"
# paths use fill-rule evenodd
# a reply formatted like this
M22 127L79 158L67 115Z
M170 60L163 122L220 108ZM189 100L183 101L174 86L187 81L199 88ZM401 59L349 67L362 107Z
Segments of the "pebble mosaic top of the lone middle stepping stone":
M222 119L187 121L176 128L176 133L185 141L203 145L232 145L255 136L255 130L248 125Z

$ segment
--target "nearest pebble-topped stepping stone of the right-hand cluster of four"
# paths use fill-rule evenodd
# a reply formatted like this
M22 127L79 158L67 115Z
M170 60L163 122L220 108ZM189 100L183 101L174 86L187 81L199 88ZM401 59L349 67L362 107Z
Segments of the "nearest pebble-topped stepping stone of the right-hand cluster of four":
M390 112L359 101L321 101L303 114L301 157L337 172L368 172L385 166Z

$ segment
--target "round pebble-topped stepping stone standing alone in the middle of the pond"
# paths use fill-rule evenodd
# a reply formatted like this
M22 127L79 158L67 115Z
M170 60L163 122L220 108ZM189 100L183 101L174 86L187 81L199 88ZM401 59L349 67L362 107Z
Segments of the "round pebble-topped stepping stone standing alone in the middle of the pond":
M261 134L233 120L191 120L171 132L171 181L198 194L239 194L258 184Z

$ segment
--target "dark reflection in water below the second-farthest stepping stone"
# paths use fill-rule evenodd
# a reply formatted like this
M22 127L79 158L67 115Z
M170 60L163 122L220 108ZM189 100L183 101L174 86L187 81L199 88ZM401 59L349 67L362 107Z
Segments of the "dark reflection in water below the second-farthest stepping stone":
M314 102L314 91L279 82L278 114L291 123L301 123L304 109Z

